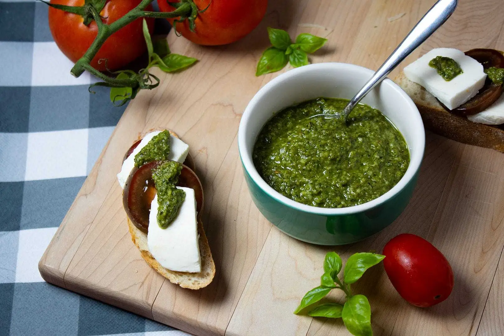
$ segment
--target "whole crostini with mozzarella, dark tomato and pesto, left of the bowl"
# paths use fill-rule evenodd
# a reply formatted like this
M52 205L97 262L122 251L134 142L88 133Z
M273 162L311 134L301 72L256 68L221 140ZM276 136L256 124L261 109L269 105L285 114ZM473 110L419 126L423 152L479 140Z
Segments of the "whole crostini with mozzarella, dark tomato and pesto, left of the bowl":
M203 187L188 145L152 130L124 155L117 180L132 240L144 260L183 288L208 286L215 275L201 214Z

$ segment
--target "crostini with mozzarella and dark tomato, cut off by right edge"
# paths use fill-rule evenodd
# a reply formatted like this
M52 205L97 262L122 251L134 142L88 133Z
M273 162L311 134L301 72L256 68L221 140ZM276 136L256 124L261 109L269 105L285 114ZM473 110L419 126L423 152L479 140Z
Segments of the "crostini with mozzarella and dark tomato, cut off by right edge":
M454 60L461 73L446 80L429 65L436 57ZM436 48L407 65L395 82L413 99L427 129L504 152L503 75L501 51Z

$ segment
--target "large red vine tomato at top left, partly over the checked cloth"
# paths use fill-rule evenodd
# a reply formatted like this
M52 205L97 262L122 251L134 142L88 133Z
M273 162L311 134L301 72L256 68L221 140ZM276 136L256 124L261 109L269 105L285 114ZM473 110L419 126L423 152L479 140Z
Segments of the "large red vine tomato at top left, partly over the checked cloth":
M100 15L106 24L124 16L140 4L141 0L107 0ZM51 0L51 4L83 6L84 0ZM146 8L152 11L152 6ZM154 29L154 20L147 19L149 31ZM73 62L84 55L96 35L96 22L89 26L83 24L83 17L49 7L49 28L52 37L61 51ZM101 46L91 61L93 68L99 71L117 70L139 57L147 49L142 31L142 19L137 19L128 26L112 34ZM99 59L107 59L98 64Z

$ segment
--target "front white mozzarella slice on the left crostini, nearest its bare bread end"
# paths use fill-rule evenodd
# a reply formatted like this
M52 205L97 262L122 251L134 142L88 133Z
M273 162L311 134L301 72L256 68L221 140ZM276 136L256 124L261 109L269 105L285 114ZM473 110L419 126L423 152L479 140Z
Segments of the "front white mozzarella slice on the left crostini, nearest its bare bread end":
M194 190L177 188L185 191L185 199L177 217L166 229L160 228L157 222L157 194L152 200L147 245L152 256L168 270L199 273L201 257Z

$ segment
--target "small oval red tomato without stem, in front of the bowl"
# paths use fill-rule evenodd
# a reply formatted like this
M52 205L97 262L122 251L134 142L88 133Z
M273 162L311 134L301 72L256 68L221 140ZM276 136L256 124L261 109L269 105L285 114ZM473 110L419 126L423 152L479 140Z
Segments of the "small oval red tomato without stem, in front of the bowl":
M450 263L431 243L409 233L392 238L383 248L383 263L392 285L409 303L430 307L453 289Z

